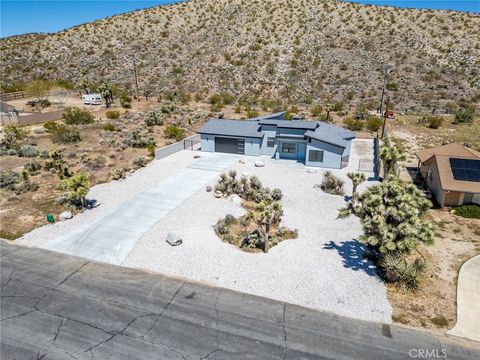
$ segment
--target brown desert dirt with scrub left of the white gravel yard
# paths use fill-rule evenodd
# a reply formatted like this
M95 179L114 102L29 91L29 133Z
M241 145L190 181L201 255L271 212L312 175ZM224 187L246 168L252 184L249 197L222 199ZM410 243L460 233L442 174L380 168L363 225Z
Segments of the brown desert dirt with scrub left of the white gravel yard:
M27 100L15 101L25 104ZM82 137L81 141L71 144L53 143L50 134L44 131L42 124L38 124L25 127L28 136L21 145L35 145L39 152L59 151L71 172L88 171L91 175L91 185L104 183L112 179L112 171L115 169L134 170L135 158L142 157L147 162L151 160L145 148L125 146L123 141L133 129L143 124L146 111L161 106L162 104L157 101L145 100L134 101L131 109L121 109L118 104L114 104L111 108L120 112L120 119L107 120L105 113L108 109L100 105L94 108L95 111L90 110L96 118L94 124L77 126ZM165 118L164 125L149 127L146 131L155 139L157 147L168 145L174 142L164 136L164 129L169 123L180 124L185 129L186 136L189 136L207 119L205 116L189 123L186 121L187 116L188 109L184 113L182 106L177 106L176 111ZM106 122L114 124L116 131L104 130L102 125ZM48 160L41 157L6 155L0 157L0 168L2 171L21 173L26 163L35 161L43 166ZM47 213L57 216L64 210L63 206L55 202L55 199L64 192L58 188L61 179L55 173L42 169L37 174L31 175L29 180L39 185L38 190L19 195L7 190L0 192L0 224L4 238L16 238L45 224Z

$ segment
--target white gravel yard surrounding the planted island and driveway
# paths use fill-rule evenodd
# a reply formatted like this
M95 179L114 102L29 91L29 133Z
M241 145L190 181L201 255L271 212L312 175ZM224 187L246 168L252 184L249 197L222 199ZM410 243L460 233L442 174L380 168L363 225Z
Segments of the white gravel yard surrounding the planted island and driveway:
M370 143L356 140L350 165L333 170L346 181L346 173L356 170L358 158L366 158ZM208 154L202 156L208 156ZM230 156L230 155L225 155ZM254 167L256 157L236 162L240 174L256 175L265 186L278 187L284 197L282 225L298 230L298 239L273 247L268 254L245 253L222 242L214 233L217 220L230 213L243 214L243 208L228 199L216 199L201 189L147 230L129 253L123 266L181 276L215 286L303 305L318 310L365 320L391 322L391 306L386 288L374 268L362 258L362 247L355 240L361 233L358 219L337 220L341 196L323 193L314 185L321 182L323 170L307 169L295 162L262 158L266 166ZM41 227L19 239L29 246L42 244L84 226L145 190L175 174L193 161L193 153L182 151L152 162L121 182L95 186L89 198L102 205L74 219ZM371 174L367 174L371 175ZM214 185L215 180L210 185ZM363 187L372 182L364 183ZM169 232L178 234L183 245L165 242Z

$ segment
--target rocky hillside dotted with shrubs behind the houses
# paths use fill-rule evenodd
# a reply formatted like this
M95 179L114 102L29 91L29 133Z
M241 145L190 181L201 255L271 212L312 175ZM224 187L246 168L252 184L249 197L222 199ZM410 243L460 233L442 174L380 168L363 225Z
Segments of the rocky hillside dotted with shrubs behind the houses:
M479 99L480 15L324 0L194 0L0 40L3 83L35 77L399 110ZM448 105L447 105L448 107Z

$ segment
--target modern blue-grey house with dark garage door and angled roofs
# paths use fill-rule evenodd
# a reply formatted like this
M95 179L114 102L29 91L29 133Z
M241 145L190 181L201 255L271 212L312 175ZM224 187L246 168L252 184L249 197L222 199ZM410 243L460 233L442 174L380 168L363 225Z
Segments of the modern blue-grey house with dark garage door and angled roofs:
M307 166L347 166L354 132L317 121L284 120L284 114L249 120L211 119L198 131L201 150L269 155Z

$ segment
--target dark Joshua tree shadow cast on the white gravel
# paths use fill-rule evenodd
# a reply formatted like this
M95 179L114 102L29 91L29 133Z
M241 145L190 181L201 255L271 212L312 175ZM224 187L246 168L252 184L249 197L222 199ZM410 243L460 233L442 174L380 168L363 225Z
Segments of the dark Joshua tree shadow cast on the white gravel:
M376 266L368 259L364 258L363 253L367 247L355 239L343 241L339 244L330 241L323 247L328 250L337 250L343 258L343 266L354 271L364 271L370 276L378 276Z

